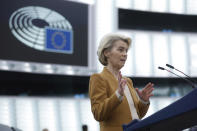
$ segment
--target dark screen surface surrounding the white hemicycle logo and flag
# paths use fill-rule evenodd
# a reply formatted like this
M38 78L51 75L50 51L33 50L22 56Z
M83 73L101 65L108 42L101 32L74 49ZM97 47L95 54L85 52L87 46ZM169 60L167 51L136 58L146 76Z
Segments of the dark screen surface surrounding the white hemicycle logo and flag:
M9 18L19 8L41 6L63 15L72 25L73 54L45 52L30 48L15 38ZM67 65L88 65L88 5L64 0L3 0L0 4L0 59Z

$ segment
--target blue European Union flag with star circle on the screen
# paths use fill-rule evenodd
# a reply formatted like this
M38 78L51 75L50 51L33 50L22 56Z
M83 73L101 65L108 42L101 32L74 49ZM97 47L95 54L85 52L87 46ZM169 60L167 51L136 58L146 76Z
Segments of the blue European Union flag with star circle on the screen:
M71 30L62 30L46 28L45 49L54 52L73 53L73 32Z

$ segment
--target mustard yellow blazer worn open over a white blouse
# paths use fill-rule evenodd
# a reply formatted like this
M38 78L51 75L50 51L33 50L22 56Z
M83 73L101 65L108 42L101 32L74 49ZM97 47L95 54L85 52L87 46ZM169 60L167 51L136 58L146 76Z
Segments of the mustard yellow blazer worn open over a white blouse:
M143 104L137 97L131 79L127 85L134 101L139 118L145 116L149 104ZM101 131L122 131L122 125L132 121L129 104L126 97L120 101L115 91L118 81L113 74L104 67L99 74L93 74L89 82L89 97L94 118L99 121Z

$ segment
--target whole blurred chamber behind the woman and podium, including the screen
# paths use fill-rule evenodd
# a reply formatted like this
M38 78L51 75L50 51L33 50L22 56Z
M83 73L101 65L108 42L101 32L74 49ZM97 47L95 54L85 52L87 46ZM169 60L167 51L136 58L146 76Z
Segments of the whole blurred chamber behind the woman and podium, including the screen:
M122 74L137 88L155 84L145 118L192 91L158 66L197 81L195 0L3 0L0 7L1 124L99 131L88 84L103 68L96 51L110 32L132 38Z

